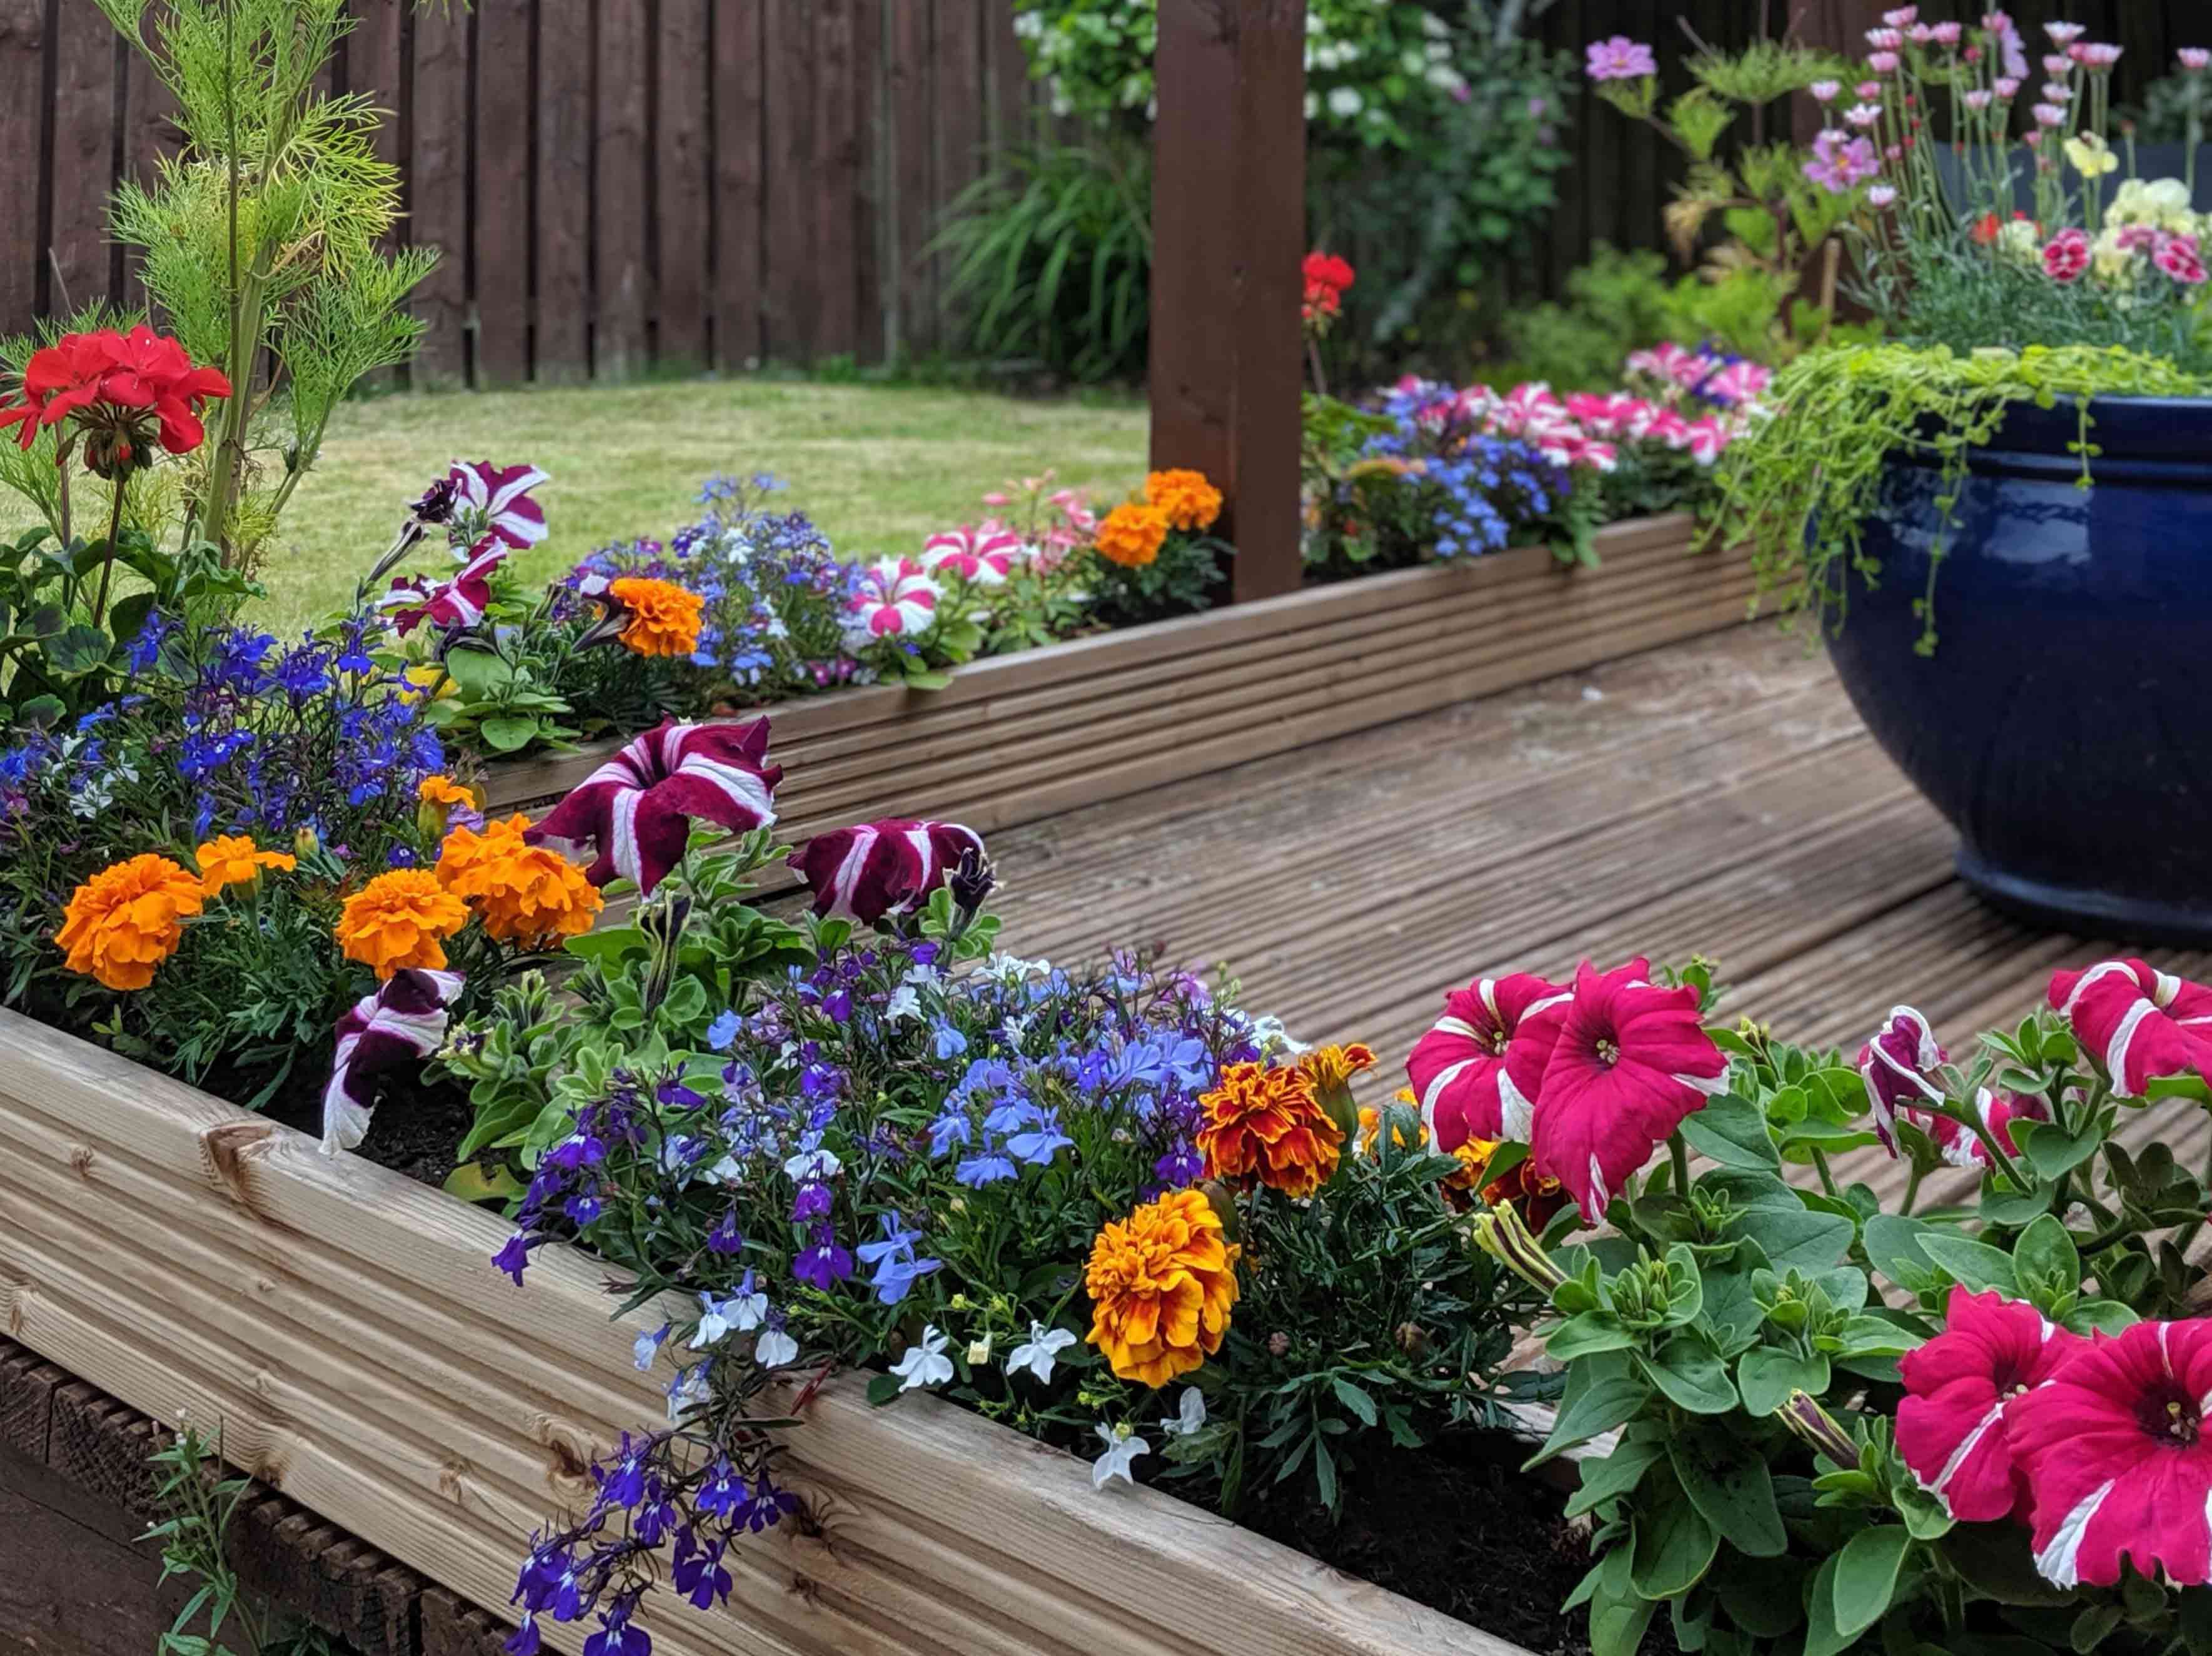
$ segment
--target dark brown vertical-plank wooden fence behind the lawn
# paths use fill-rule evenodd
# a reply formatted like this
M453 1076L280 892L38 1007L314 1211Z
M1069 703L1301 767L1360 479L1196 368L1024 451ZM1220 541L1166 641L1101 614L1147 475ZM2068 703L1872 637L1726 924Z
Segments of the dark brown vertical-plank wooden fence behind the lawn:
M927 352L940 208L1042 119L1013 0L352 7L334 88L447 254L431 385ZM168 115L93 0L0 0L0 332L139 298L106 197Z

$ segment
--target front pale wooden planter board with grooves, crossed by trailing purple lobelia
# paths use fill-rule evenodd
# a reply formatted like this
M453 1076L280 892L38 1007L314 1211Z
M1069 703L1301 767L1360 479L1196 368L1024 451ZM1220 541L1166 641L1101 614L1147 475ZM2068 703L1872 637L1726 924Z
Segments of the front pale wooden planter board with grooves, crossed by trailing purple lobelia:
M480 1605L586 1466L661 1417L582 1254L0 1013L0 1333ZM792 1433L812 1526L657 1594L666 1656L1513 1656L1517 1647L936 1397L832 1382ZM4 1550L4 1548L0 1548ZM546 1625L575 1652L588 1627Z

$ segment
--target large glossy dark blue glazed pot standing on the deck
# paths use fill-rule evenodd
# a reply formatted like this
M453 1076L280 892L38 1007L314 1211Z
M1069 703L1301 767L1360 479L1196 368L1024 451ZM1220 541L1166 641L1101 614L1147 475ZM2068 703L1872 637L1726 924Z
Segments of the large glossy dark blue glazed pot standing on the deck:
M1984 898L2084 937L2212 944L2212 400L2013 409L1971 455L1916 654L1936 460L1893 460L1829 639Z

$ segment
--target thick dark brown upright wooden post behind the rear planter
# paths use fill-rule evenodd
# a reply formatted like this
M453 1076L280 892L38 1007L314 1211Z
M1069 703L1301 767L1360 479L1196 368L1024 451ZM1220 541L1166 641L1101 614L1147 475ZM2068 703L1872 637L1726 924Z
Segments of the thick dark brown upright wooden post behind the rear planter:
M1292 593L1305 0L1159 0L1152 467L1221 486L1237 599Z

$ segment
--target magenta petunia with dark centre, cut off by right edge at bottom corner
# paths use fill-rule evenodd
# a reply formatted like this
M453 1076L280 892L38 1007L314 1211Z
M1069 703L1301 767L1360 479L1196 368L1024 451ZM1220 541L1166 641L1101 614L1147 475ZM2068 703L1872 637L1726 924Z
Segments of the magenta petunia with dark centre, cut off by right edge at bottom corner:
M2212 1320L2097 1335L2004 1411L2035 1497L2035 1568L2059 1587L2212 1581Z

